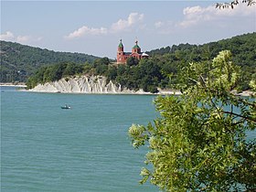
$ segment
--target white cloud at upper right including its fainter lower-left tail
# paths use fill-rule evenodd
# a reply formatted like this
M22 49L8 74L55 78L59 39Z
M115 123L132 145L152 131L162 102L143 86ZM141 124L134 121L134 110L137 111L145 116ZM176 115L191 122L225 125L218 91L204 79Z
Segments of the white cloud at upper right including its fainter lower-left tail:
M189 27L227 27L227 22L239 24L247 18L256 19L255 6L240 4L234 9L219 9L214 5L207 7L188 6L183 9L183 18L180 21L157 21L155 22L155 29L159 34L172 34Z

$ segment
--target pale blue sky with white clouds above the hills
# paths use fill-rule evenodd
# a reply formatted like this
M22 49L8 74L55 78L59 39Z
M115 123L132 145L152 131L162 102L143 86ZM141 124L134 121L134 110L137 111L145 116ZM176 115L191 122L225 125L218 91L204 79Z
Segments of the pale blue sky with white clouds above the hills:
M149 51L256 31L256 5L240 1L234 9L219 10L219 1L1 0L0 38L115 59L120 39L124 51L132 51L136 40Z

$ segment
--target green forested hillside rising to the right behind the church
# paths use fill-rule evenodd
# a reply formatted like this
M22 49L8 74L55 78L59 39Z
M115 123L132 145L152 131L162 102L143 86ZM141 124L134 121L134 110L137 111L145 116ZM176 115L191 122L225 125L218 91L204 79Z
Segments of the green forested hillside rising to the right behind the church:
M232 53L234 64L240 66L240 88L249 89L249 81L256 79L256 33L244 34L222 39L203 45L180 44L178 46L157 48L146 52L152 58L159 59L168 73L176 73L186 63L208 61L215 58L219 51L228 49Z

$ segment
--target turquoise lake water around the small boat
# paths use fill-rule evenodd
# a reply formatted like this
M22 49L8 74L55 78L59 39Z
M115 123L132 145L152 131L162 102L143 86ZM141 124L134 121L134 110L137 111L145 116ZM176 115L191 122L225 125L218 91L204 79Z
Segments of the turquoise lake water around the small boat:
M146 148L127 135L155 119L154 98L1 87L1 191L158 191L138 183Z

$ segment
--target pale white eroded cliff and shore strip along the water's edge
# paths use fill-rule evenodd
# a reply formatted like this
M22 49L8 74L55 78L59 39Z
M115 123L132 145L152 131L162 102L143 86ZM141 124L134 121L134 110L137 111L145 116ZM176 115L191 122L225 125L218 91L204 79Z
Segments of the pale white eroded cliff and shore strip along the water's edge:
M46 82L44 84L37 84L30 92L48 92L48 93L79 93L79 94L130 94L130 95L181 95L182 92L173 89L157 88L158 92L152 93L149 91L129 90L122 88L120 84L115 84L112 80L108 81L104 76L75 76L67 79L60 79L57 81ZM238 96L255 95L253 91L231 91L232 94Z

